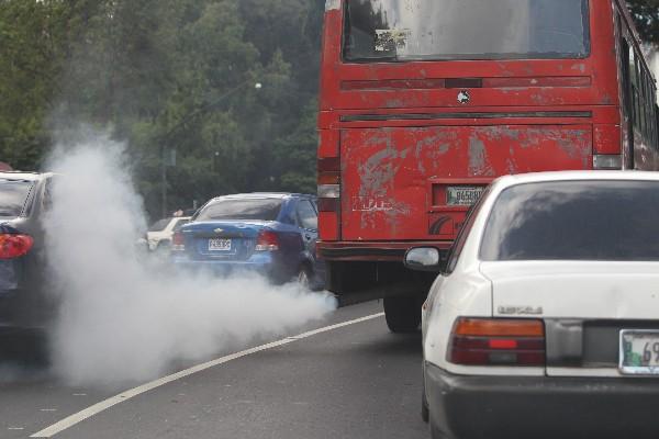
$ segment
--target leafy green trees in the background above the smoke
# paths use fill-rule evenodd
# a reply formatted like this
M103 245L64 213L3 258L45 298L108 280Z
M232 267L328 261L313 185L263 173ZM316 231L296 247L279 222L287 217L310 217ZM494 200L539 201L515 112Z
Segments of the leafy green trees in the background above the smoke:
M652 42L658 1L629 1ZM324 3L0 0L0 161L40 168L82 122L127 140L153 215L171 151L168 211L236 191L311 192Z

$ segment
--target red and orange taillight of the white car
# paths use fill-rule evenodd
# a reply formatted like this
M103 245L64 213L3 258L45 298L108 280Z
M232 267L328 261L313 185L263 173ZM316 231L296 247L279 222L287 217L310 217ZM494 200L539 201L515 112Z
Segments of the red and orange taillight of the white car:
M448 361L463 365L546 364L545 325L535 319L459 318Z

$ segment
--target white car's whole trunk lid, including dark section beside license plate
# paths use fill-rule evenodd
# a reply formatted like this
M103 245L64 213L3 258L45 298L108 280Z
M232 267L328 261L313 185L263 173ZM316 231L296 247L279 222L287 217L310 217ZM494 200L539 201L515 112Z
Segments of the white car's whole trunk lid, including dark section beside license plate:
M659 262L485 262L495 317L541 318L547 375L621 376L619 334L654 328Z

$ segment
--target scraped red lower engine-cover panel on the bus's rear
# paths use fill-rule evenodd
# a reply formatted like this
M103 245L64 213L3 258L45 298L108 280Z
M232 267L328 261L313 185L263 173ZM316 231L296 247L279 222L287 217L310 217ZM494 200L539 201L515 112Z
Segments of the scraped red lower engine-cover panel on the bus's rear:
M469 206L449 202L448 188L484 187L506 173L587 169L592 126L353 128L342 131L340 148L343 239L453 239Z

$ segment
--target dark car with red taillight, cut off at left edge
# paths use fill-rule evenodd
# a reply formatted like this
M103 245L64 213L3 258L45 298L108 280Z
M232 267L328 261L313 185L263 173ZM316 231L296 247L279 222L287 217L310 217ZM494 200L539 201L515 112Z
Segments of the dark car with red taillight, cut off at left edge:
M45 294L44 230L51 173L0 172L0 331L44 329L54 314Z

